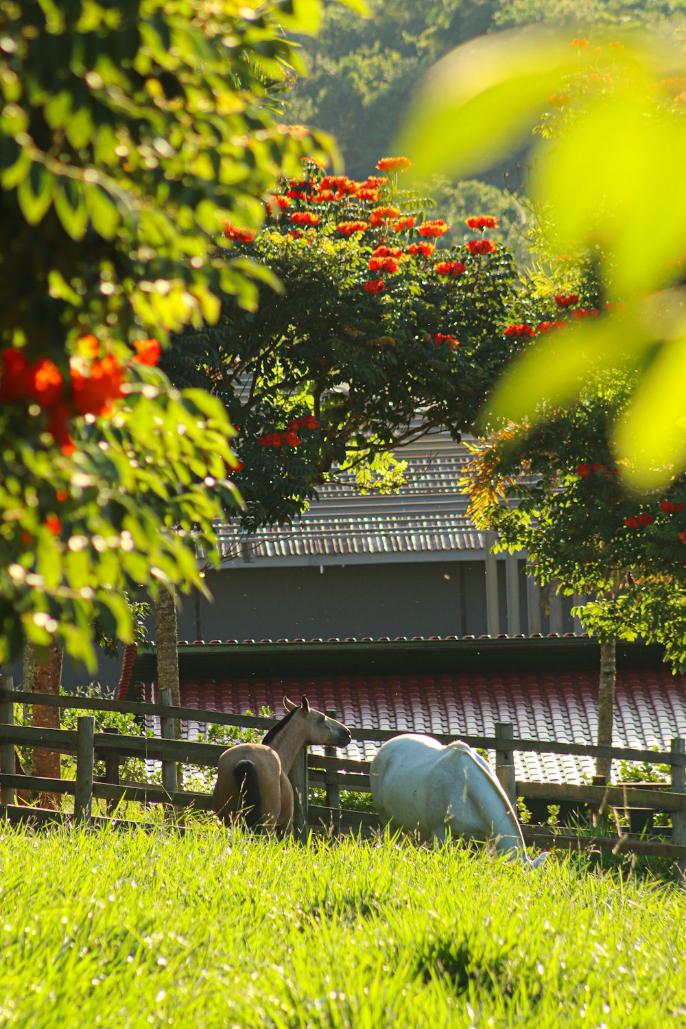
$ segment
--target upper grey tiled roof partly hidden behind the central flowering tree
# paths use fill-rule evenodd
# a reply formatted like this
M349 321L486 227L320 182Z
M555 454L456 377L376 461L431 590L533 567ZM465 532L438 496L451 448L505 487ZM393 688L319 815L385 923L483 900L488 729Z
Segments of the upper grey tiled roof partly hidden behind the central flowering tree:
M322 486L319 500L292 526L257 531L246 539L234 524L219 527L227 557L265 561L355 558L482 551L482 534L467 518L458 488L469 451L447 432L431 433L395 451L408 462L406 486L362 495L353 476Z

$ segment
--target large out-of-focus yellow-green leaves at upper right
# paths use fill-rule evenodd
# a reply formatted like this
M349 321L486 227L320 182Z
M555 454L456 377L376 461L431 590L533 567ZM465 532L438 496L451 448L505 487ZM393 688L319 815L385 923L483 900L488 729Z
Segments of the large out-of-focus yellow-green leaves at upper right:
M570 46L557 35L496 35L439 66L404 135L421 177L468 173L537 130L549 252L601 244L601 317L536 347L493 410L515 421L544 417L603 368L642 367L612 432L622 474L644 489L686 466L685 83L683 54L669 37L631 46L580 37Z

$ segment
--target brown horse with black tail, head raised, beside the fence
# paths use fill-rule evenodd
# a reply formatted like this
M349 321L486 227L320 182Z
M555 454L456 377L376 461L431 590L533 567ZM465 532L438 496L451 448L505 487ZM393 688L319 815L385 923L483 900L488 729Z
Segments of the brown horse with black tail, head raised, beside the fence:
M226 825L240 818L250 828L288 832L293 822L293 787L288 773L310 744L345 747L350 732L340 721L315 711L302 698L298 706L284 697L288 714L261 743L239 743L219 758L214 810Z

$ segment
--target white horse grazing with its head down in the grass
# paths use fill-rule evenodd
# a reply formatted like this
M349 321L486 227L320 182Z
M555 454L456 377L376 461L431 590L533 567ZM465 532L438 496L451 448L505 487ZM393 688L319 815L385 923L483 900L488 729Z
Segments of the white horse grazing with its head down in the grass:
M396 829L419 830L424 841L452 837L490 840L498 854L527 856L517 816L488 761L466 743L443 746L430 736L407 733L388 740L369 769L371 796L380 815Z

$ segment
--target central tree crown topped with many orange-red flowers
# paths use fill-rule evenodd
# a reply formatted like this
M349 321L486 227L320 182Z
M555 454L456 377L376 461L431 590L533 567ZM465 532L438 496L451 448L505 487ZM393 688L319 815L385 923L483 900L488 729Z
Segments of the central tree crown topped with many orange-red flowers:
M222 259L250 256L283 283L255 312L225 296L219 320L187 329L165 355L179 386L202 383L239 436L243 524L289 522L336 468L362 489L392 488L391 450L447 426L469 429L520 341L503 333L516 282L498 219L441 248L444 219L399 186L405 157L364 181L305 159L267 201L255 234L228 223Z

